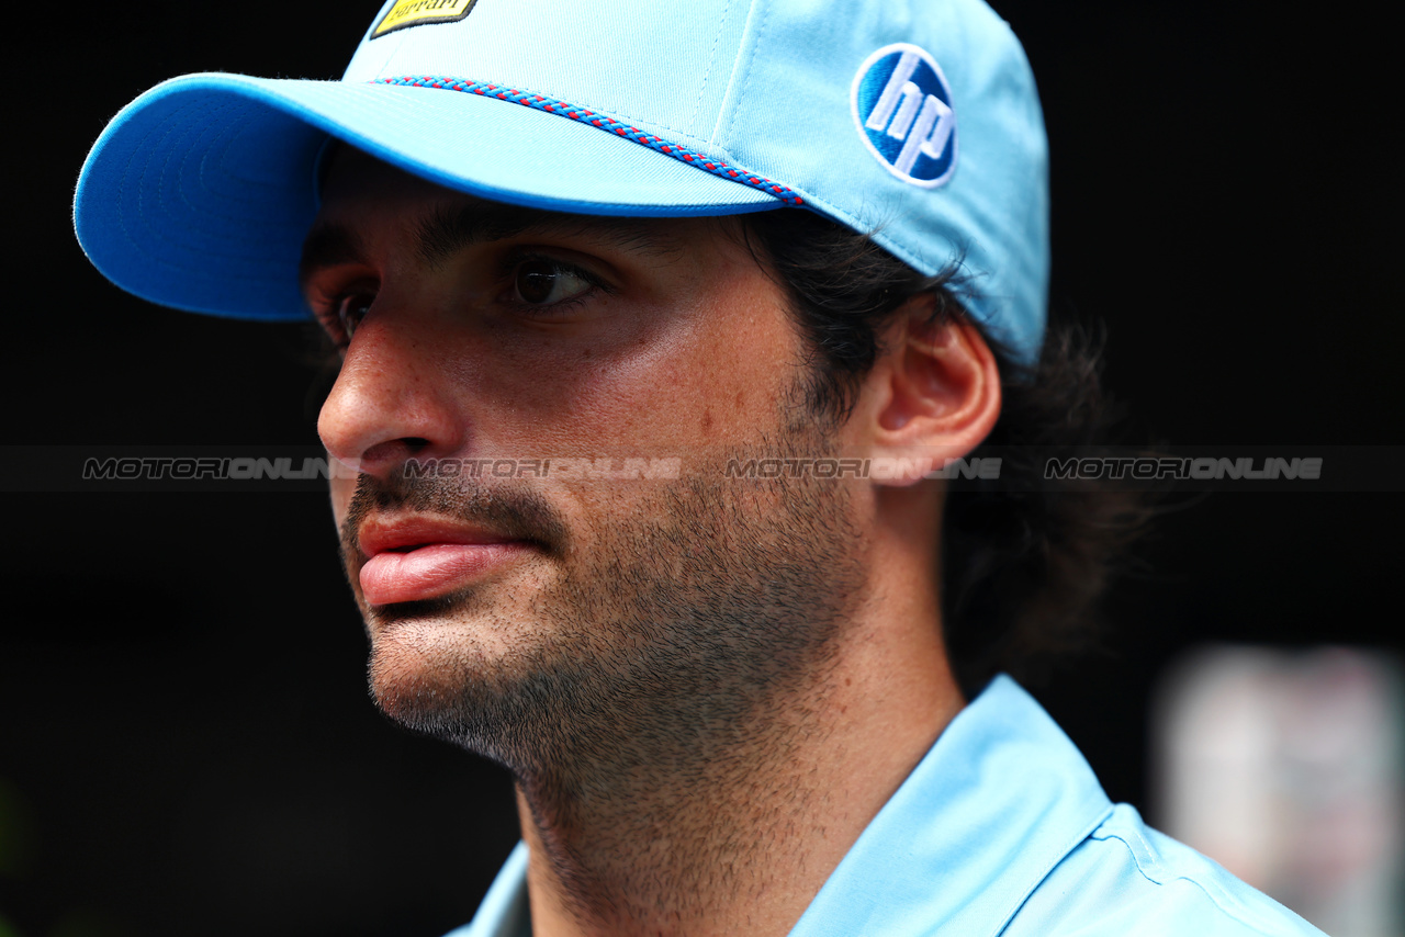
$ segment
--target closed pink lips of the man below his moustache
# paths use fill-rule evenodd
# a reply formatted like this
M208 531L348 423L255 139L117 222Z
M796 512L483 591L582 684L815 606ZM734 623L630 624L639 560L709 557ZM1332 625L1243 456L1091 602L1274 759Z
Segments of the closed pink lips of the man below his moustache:
M371 605L437 598L521 556L531 544L433 517L368 517L358 579Z

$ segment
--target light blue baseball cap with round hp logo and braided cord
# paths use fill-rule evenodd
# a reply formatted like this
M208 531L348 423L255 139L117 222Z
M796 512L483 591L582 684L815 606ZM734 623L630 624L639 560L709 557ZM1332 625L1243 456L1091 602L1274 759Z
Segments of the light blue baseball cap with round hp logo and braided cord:
M145 299L301 319L319 155L594 215L809 208L924 274L1028 362L1048 284L1047 142L982 0L391 0L340 81L187 74L89 153L74 226Z

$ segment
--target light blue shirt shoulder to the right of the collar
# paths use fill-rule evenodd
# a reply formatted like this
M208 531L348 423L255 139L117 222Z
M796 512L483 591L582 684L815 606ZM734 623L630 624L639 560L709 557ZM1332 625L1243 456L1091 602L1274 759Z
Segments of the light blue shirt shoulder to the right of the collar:
M1322 937L1322 931L1117 805L1040 882L1005 930L1023 934Z

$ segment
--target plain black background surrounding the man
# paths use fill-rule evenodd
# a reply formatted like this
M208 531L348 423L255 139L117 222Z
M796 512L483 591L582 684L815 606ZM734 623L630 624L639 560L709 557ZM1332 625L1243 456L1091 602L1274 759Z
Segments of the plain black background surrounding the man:
M1107 382L1139 424L1286 455L1405 441L1384 22L1352 3L995 6L1047 108L1054 306L1107 323ZM7 30L7 444L313 444L303 334L111 288L72 236L72 185L149 86L334 77L375 4L25 8ZM0 917L17 933L468 920L516 840L509 781L367 700L325 497L4 500ZM1184 500L1141 551L1152 572L1113 591L1106 652L1037 695L1113 798L1145 806L1148 700L1184 649L1399 645L1402 509L1398 492Z

